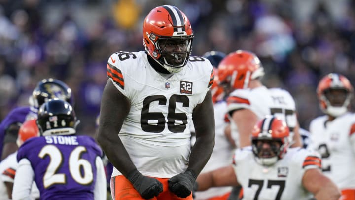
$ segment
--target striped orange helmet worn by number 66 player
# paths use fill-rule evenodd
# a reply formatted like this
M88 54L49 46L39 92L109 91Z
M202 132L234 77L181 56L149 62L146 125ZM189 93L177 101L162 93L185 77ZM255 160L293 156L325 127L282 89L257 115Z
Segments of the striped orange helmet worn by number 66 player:
M145 51L169 72L179 72L186 65L192 50L193 31L186 15L177 7L163 5L152 9L143 23L143 45ZM168 52L163 41L183 40L186 51ZM180 64L169 63L166 56L183 56Z

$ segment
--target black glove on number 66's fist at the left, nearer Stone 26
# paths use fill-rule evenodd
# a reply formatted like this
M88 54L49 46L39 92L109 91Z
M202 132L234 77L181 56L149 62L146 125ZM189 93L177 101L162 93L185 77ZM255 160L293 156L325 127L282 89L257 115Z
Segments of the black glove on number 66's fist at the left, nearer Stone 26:
M127 179L144 199L151 199L163 192L163 184L155 178L143 176L137 169L127 175Z

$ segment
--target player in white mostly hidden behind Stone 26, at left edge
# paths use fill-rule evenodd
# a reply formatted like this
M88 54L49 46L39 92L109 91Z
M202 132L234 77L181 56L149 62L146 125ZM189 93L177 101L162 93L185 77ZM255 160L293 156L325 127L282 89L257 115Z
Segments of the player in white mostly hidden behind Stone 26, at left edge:
M26 140L37 137L39 135L36 120L25 121L19 131L16 144L20 147ZM11 200L12 189L16 170L18 168L18 162L16 160L17 151L10 154L4 160L0 162L0 199ZM39 190L36 183L33 183L31 189L31 199L35 200L39 198Z

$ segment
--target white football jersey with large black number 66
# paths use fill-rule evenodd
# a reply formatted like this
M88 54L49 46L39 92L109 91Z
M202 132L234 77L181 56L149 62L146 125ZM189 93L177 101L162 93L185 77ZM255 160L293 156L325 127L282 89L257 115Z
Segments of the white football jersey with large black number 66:
M166 79L150 66L145 51L121 51L108 59L107 76L131 104L119 137L137 169L159 178L185 171L192 112L213 83L210 61L192 57ZM120 174L113 169L112 176Z

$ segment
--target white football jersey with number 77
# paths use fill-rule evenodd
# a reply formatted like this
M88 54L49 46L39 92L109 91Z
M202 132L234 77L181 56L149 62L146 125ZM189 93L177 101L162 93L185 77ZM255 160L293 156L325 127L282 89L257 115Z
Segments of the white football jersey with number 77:
M306 170L320 168L320 162L316 152L296 147L267 167L255 161L249 146L235 151L233 166L242 200L307 200L312 195L302 186L302 177Z

